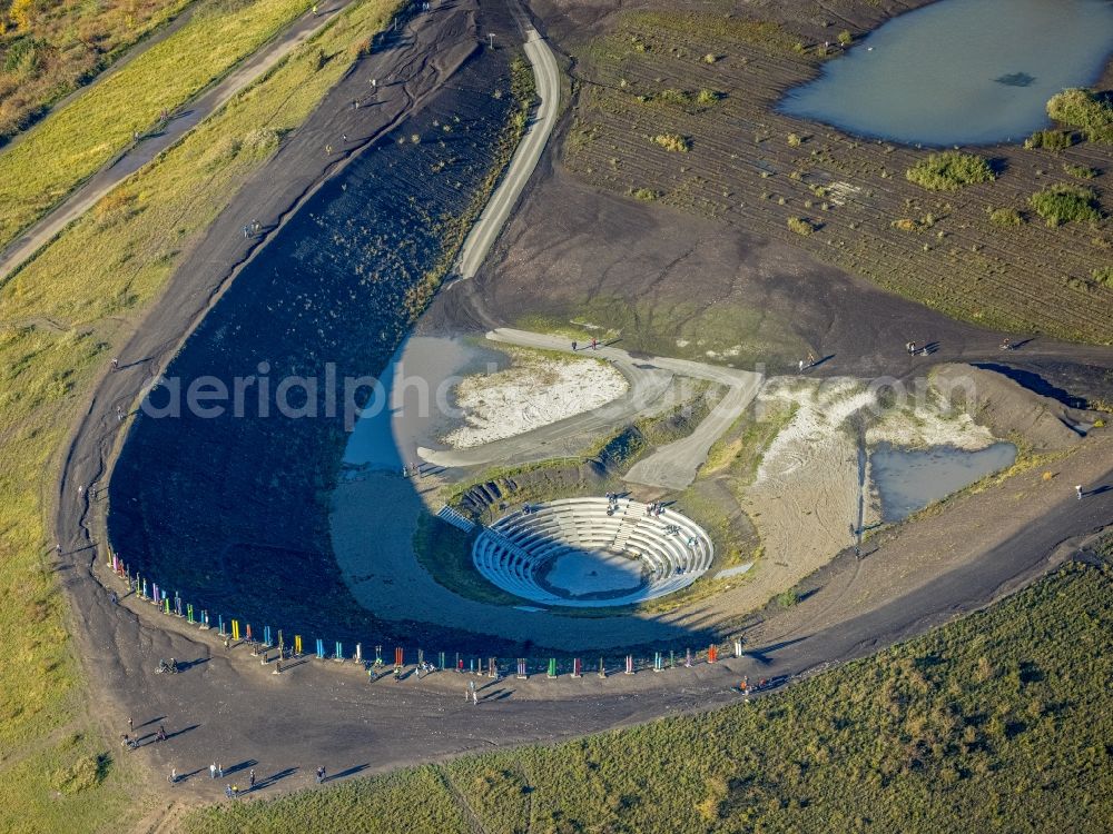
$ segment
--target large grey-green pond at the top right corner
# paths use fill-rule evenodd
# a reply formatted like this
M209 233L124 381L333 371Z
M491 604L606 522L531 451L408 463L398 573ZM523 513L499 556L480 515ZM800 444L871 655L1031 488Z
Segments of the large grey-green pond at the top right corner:
M940 0L829 60L778 109L908 145L1020 141L1050 123L1047 99L1095 81L1111 50L1107 0Z

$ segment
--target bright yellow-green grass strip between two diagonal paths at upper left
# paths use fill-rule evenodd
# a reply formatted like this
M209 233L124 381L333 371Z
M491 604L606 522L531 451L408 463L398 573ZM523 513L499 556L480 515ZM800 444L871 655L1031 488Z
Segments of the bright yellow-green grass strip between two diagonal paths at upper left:
M199 90L306 11L307 0L253 0L199 8L88 95L79 96L0 153L0 248Z

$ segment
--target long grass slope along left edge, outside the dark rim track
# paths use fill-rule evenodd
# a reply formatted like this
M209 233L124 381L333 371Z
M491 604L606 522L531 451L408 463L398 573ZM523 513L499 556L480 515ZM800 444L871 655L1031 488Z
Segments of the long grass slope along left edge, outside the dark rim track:
M0 288L0 629L10 659L0 665L0 795L19 797L0 800L0 831L67 830L60 820L70 831L97 831L134 807L125 791L135 796L136 778L111 759L115 745L106 746L89 715L49 564L50 494L69 428L114 342L183 252L396 6L364 0L337 16ZM319 67L318 49L338 58ZM109 758L97 765L98 755ZM56 785L68 787L50 798Z

